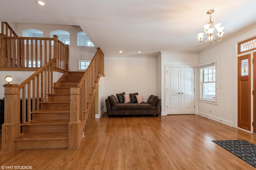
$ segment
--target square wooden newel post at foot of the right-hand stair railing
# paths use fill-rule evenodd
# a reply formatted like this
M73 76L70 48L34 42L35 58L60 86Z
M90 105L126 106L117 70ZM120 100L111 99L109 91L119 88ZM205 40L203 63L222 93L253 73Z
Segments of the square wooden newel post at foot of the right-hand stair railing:
M78 149L81 143L80 87L70 88L70 122L68 123L68 149Z

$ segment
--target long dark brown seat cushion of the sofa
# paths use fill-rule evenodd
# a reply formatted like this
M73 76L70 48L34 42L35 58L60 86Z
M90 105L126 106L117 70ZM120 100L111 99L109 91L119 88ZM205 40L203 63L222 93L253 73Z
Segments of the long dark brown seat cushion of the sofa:
M156 106L153 106L147 102L143 103L117 103L115 106L111 106L111 110L155 110Z

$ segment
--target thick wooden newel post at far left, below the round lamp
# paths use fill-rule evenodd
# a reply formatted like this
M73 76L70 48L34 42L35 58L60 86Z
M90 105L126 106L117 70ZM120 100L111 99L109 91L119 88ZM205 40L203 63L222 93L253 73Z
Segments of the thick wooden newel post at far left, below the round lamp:
M2 125L2 152L16 149L20 137L20 90L18 84L4 84L4 124Z

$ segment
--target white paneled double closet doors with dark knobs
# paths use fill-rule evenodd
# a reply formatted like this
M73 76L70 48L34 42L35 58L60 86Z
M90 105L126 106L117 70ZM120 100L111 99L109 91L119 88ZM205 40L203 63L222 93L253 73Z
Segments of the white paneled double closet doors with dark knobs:
M167 67L166 114L194 114L194 68Z

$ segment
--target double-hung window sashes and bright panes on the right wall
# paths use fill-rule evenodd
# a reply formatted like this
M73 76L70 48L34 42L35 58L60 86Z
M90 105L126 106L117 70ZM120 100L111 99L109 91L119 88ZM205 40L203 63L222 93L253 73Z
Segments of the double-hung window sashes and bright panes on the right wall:
M216 62L201 65L199 68L200 99L216 101Z

